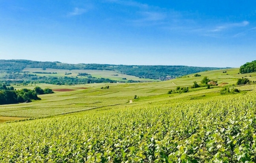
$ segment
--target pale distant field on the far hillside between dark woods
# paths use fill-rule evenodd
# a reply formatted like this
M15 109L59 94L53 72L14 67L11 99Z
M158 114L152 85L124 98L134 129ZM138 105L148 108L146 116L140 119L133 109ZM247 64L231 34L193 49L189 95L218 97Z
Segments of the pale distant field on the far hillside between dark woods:
M67 77L79 77L79 78L87 78L85 76L77 76L79 73L88 73L91 74L92 77L96 78L108 78L111 80L118 80L118 81L127 81L127 80L134 80L134 81L157 81L152 79L144 79L139 78L131 75L122 74L120 72L110 71L110 70L64 70L64 69L46 69L42 70L42 68L25 68L23 72L30 72L31 74L36 74L37 76L67 76ZM46 73L57 73L57 74L40 74L40 73L33 73L33 72L46 72ZM65 73L72 73L69 75L65 75ZM118 75L118 76L114 76ZM126 78L127 80L122 80L122 78Z

